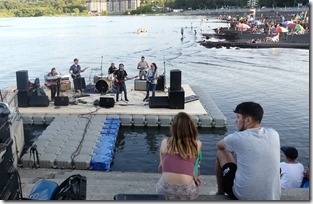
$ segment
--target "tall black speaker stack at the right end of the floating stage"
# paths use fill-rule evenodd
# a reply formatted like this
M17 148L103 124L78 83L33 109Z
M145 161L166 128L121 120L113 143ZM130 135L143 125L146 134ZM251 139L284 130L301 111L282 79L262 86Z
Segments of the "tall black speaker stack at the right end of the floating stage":
M168 100L170 109L185 108L185 90L181 87L181 71L173 69L170 72L170 89Z

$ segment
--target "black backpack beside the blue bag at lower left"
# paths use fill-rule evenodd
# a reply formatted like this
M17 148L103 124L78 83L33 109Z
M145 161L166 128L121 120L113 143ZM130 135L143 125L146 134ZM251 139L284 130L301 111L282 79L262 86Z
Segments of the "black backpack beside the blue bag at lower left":
M64 180L58 187L54 200L86 200L87 178L75 174Z

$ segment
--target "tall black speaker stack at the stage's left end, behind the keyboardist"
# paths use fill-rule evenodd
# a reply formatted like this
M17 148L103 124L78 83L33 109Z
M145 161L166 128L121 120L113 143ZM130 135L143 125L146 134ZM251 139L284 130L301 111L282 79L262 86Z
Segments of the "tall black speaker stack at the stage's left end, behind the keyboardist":
M18 107L28 107L30 93L27 70L19 70L16 72L16 85L18 90L17 93Z

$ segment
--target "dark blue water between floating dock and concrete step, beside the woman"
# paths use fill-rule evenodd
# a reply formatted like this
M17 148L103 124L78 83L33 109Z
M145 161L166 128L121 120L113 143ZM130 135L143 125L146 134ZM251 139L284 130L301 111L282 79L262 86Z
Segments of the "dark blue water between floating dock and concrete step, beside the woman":
M169 127L121 127L116 141L112 171L156 173L162 139L169 136ZM216 142L227 132L221 128L198 128L203 144L202 174L214 174Z

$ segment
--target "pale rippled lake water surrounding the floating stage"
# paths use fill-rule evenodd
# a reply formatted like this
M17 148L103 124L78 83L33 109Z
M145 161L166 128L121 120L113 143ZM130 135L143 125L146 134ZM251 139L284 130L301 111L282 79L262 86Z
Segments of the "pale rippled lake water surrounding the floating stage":
M2 18L0 88L15 83L18 70L27 69L30 80L39 77L41 82L52 67L67 74L76 57L82 67L102 67L104 73L111 62L124 63L128 74L134 76L144 55L161 72L165 70L167 82L169 71L180 69L182 83L205 88L227 118L226 129L199 130L204 144L202 174L214 174L215 144L237 130L232 111L243 101L260 103L265 111L263 126L276 129L281 145L294 145L299 150L298 161L307 165L309 50L207 49L197 43L202 40L200 29L213 33L213 28L226 24L215 18L201 24L201 18L206 17ZM148 32L138 34L138 28ZM89 69L83 76L89 82L94 74ZM156 172L160 141L168 131L168 128L121 128L112 170Z

